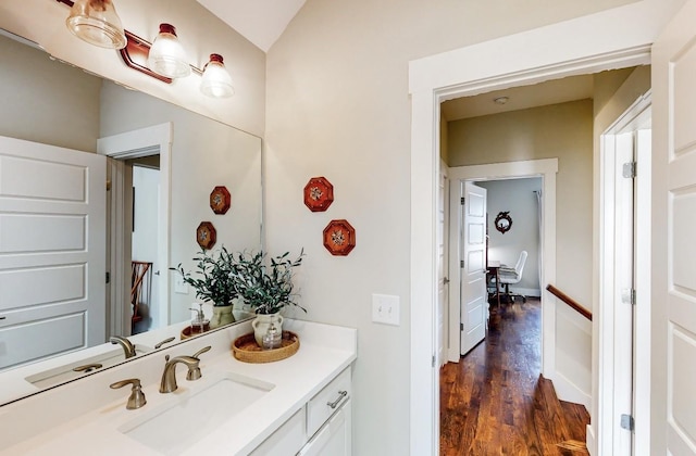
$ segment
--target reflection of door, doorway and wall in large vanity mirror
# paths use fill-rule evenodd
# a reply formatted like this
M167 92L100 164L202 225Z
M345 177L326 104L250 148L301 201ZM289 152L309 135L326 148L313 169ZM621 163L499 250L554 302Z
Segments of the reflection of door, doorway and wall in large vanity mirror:
M182 263L186 269L192 269L191 258L199 251L196 227L201 221L215 227L216 246L225 245L232 251L261 248L262 189L260 138L52 61L42 50L7 36L0 36L0 54L5 63L12 63L0 67L0 98L5 101L0 109L0 140L4 141L0 150L0 176L12 173L15 182L39 179L36 173L27 172L26 176L20 173L34 169L24 165L37 162L18 152L24 147L49 154L64 151L58 148L67 148L84 151L67 151L80 157L95 157L102 144L107 144L105 149L114 143L126 144L122 154L110 153L116 156L109 159L108 164L100 159L101 166L111 173L111 190L101 200L94 198L97 193L89 193L92 200L99 200L90 201L98 206L97 213L110 217L101 221L99 217L89 219L97 226L96 238L102 239L103 244L96 249L100 255L97 259L90 257L91 263L72 268L74 252L59 259L63 253L50 251L51 264L65 266L62 275L23 276L17 269L32 273L50 269L26 266L28 257L38 255L36 252L46 254L48 249L41 252L40 246L33 245L35 252L27 253L17 248L7 249L7 243L0 245L2 404L123 362L124 350L108 342L111 335L128 335L136 356L157 350L156 345L171 337L175 338L171 343L178 342L182 328L191 318L189 308L197 307L192 305L196 297L192 290L176 283L169 266ZM127 145L142 140L133 140L138 132L158 128L169 135L167 140L158 142L159 149L134 151ZM145 140L157 141L151 137ZM21 148L13 149L17 143ZM58 152L49 156L41 163L60 164ZM22 166L17 165L20 162ZM44 181L54 178L52 172L40 177ZM100 186L103 188L103 183ZM210 193L217 186L225 186L231 193L231 207L225 214L215 214L210 207ZM7 194L3 186L0 223L8 228L9 214L34 211L32 204L38 199L25 193ZM48 190L40 199L60 200ZM50 227L47 232L54 233L58 229L55 224L44 225ZM76 236L71 227L67 224L67 238ZM13 235L22 238L21 233ZM94 280L86 270L101 270L100 280ZM110 283L103 289L107 271ZM82 280L76 286L77 293L66 281L71 275ZM17 277L25 280L16 280ZM132 291L136 294L133 300ZM90 304L94 307L75 311L76 302L88 295L101 299ZM54 313L62 304L73 306L71 315L79 315L74 325L70 318ZM136 305L136 318L132 318ZM204 309L210 312L209 306ZM91 319L95 315L98 318ZM28 331L29 334L23 330L48 320L60 325L41 326L40 331ZM129 335L132 331L138 334ZM25 353L26 347L34 351Z

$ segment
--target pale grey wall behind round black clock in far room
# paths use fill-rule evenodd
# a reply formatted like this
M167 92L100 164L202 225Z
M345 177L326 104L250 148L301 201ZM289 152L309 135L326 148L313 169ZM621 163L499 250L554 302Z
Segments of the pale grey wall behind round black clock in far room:
M488 190L488 259L498 259L514 267L520 252L527 252L519 283L510 291L539 296L539 219L534 191L542 191L542 179L508 179L476 182ZM509 212L512 227L500 232L495 227L496 216Z

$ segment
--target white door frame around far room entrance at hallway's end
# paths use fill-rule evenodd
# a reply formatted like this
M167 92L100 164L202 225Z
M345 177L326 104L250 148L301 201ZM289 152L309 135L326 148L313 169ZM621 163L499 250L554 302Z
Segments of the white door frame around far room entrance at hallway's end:
M558 173L558 159L525 160L519 162L492 163L486 165L470 165L449 168L450 194L457 194L458 186L467 180L501 180L526 177L542 178L542 194L544 195L543 204L543 225L542 230L542 252L539 258L542 263L540 283L554 283L556 281L556 174ZM450 199L450 213L457 211L459 202L456 198ZM457 217L450 216L450 238L449 245L452 249L459 245L459 241L455 239L461 229L461 221ZM459 251L453 250L449 253L449 277L450 295L449 295L449 350L448 358L452 363L459 360L459 308L452 303L459 304L459 288L461 287L461 277L455 271L459 268L461 261ZM552 372L555 370L556 359L556 331L555 315L556 307L547 305L545 293L542 293L542 371ZM552 301L551 301L552 304ZM456 316L455 316L456 313ZM452 321L452 319L456 319ZM452 337L455 331L455 337ZM456 356L455 356L456 355Z

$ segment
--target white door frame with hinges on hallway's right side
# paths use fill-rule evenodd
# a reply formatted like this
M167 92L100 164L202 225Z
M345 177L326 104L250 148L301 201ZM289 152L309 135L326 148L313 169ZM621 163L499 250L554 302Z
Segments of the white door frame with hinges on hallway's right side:
M614 166L617 150L616 136L622 132L636 134L642 124L651 116L650 92L639 97L614 123L600 136L599 144L599 305L596 311L597 345L602 356L597 365L596 377L598 379L597 393L597 430L596 444L598 454L614 453L614 435L617 434L618 410L614 398L605 392L619 391L625 388L619 384L614 376L616 365L621 363L621 354L614 345L617 338L631 338L633 340L634 363L633 367L633 397L649 397L650 395L650 274L647 268L635 268L635 308L633 328L620 325L614 318L616 296L621 293L613 281L616 264L616 245L613 215L614 188L619 170ZM637 136L637 135L636 135ZM634 265L650 264L650 179L651 154L645 148L635 148L636 176L635 194L632 204L634 213ZM643 334L635 338L633 331ZM627 411L627 410L623 410ZM650 447L650 403L649 401L635 401L631 410L635 420L633 448Z

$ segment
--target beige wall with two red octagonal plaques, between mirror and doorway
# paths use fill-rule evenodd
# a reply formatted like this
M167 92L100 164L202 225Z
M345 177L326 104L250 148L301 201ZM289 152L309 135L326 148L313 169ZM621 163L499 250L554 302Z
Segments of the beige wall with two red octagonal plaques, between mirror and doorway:
M625 3L309 0L269 51L268 246L272 253L304 246L306 318L358 328L356 454L406 455L409 434L419 432L409 430L408 62ZM325 213L302 204L302 188L313 176L334 185L335 201ZM587 183L582 204L588 214L591 191ZM356 249L346 257L331 256L322 245L333 218L346 218L357 230ZM400 297L401 326L371 321L372 293Z

